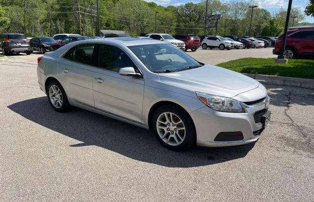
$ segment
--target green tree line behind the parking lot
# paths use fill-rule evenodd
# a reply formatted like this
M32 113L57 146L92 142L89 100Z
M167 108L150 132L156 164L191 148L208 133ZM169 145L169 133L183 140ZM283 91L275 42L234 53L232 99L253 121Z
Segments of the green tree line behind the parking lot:
M253 4L258 5L258 2L209 0L208 14L221 15L217 34L248 35L252 12L248 6ZM95 5L96 0L0 0L0 31L20 32L27 36L95 35L98 29ZM167 7L143 0L99 0L99 7L101 29L125 30L132 36L155 32L156 15L157 32L204 34L206 0ZM286 15L283 8L273 14L255 8L251 35L278 36L283 32ZM292 8L291 16L298 16L294 25L300 25L305 19L298 8ZM292 26L292 20L289 26ZM208 28L206 34L215 34L215 30Z

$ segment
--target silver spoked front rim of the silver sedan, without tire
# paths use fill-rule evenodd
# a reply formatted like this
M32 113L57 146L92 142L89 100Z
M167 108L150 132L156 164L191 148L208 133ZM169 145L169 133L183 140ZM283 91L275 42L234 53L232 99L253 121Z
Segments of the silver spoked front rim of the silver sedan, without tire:
M185 138L185 126L182 119L171 112L164 112L157 118L157 133L160 139L168 145L177 146Z

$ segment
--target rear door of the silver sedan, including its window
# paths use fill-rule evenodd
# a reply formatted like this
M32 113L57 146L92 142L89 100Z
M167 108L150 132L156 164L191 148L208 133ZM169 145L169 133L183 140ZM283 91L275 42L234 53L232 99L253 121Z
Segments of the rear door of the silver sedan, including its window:
M67 95L73 101L89 107L94 107L92 66L95 65L96 52L95 44L80 44L58 60Z

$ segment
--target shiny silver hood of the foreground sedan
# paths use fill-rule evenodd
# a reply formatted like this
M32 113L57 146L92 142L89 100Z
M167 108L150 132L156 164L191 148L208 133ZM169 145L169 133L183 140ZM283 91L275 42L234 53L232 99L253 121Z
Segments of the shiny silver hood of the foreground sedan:
M234 97L260 85L250 77L214 65L204 65L180 72L160 73L159 79L172 86L224 97Z

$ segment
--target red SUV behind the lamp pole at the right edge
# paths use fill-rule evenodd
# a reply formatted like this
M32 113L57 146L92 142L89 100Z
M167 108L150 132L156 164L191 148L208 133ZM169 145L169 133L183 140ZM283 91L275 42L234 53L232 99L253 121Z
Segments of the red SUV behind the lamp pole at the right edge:
M274 55L279 55L283 43L283 35L278 37L273 49ZM314 58L314 29L288 30L284 56L287 58Z

